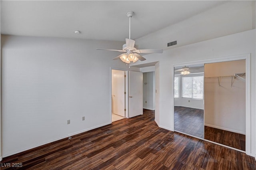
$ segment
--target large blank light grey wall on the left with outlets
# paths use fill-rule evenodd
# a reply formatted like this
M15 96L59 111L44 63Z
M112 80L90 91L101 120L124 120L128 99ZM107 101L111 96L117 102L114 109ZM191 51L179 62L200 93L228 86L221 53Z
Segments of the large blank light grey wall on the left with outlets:
M96 48L122 44L2 36L3 156L110 124L110 67L128 66Z

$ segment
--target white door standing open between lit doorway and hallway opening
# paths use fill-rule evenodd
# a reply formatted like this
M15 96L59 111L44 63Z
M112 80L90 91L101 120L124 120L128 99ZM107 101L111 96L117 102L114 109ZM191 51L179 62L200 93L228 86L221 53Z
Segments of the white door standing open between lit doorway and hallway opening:
M129 71L129 117L143 114L143 74Z

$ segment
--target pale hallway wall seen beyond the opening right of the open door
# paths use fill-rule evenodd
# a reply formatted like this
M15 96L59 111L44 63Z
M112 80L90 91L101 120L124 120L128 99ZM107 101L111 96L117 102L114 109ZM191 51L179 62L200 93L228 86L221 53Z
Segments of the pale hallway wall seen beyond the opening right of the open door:
M143 108L154 110L154 72L143 73ZM147 103L146 103L147 102Z

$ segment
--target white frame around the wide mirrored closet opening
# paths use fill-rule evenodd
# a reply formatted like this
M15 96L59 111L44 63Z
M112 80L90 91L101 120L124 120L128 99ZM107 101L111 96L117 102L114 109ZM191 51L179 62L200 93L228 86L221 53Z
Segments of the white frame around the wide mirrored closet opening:
M224 61L235 61L235 60L246 60L246 136L245 136L245 153L250 156L255 156L251 153L251 90L250 90L250 83L251 83L251 53L241 54L241 55L231 55L226 57L218 57L218 58L211 58L211 59L205 59L205 60L198 60L198 61L188 61L188 62L182 62L182 63L174 63L174 67L178 66L184 66L184 65L195 65L195 64L207 64L207 63L218 63L218 62L224 62ZM174 72L173 72L174 77ZM172 85L172 96L174 96L174 86ZM172 101L172 111L171 116L174 118L174 99ZM174 119L172 123L172 129L174 129ZM189 135L189 134L187 134ZM191 136L191 135L189 135ZM198 138L196 136L193 136L195 138ZM210 140L203 139L208 142L212 142ZM212 142L215 144L218 144L216 142ZM234 150L238 150L236 148L232 148L230 146L226 146L223 144L219 144L221 146L225 146ZM244 152L242 150L238 150L240 152Z

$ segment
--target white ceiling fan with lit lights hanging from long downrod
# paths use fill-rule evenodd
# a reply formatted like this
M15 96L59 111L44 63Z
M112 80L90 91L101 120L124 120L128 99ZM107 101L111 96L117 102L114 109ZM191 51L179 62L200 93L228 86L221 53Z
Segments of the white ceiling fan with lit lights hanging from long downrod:
M123 54L118 55L114 59L121 59L125 63L136 62L138 60L144 61L146 58L142 57L142 54L146 53L163 53L162 49L137 49L135 45L135 41L131 39L131 18L134 12L130 11L126 13L126 16L129 17L129 39L125 39L125 44L123 45L123 49L100 49L100 50L107 50L107 51L119 51L124 52ZM141 55L140 55L141 54Z

